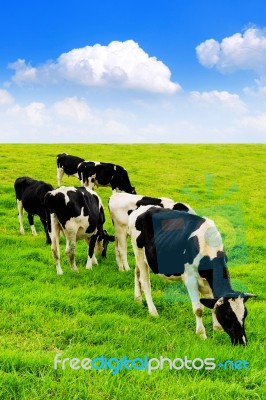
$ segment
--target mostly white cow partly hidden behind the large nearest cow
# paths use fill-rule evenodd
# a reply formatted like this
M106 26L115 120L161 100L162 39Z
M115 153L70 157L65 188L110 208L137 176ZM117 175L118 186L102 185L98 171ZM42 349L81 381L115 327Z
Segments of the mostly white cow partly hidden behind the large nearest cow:
M115 255L119 271L128 271L130 269L127 261L128 216L133 210L145 205L171 208L195 214L189 205L176 203L167 197L154 198L129 193L112 194L108 202L108 207L115 228Z

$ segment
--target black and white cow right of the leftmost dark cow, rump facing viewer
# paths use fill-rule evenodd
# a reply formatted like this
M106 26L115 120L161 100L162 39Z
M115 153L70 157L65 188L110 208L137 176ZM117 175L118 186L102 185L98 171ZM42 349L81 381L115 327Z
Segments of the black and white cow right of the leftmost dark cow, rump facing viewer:
M75 261L77 240L84 239L88 245L86 269L98 264L94 250L106 256L107 243L114 241L114 237L103 229L105 216L102 201L93 190L61 186L47 193L45 207L47 220L50 221L51 250L58 275L63 274L59 249L61 231L66 238L66 254L73 271L78 271Z

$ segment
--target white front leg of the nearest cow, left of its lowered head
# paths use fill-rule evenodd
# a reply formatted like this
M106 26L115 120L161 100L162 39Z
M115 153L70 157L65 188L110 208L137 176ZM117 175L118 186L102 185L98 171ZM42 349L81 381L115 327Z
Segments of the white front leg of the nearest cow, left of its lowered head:
M192 302L192 309L196 317L196 334L202 339L207 339L206 330L202 322L204 306L200 303L197 267L192 264L185 264L185 273L182 279Z

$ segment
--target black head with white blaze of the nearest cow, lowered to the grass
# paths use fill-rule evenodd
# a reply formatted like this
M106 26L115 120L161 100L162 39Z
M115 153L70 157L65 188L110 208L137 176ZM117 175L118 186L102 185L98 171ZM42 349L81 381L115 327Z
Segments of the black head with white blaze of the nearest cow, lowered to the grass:
M250 297L256 297L256 295L251 293L234 293L220 297L219 299L200 299L204 306L213 308L218 322L230 336L233 345L247 344L245 332L247 309L245 302Z

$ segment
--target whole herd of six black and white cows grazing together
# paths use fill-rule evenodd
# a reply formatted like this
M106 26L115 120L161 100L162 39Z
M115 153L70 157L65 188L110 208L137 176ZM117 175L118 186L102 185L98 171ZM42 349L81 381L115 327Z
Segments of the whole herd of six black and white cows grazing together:
M23 209L33 235L34 215L40 217L58 275L63 274L61 232L73 271L78 271L75 246L80 239L88 247L86 269L98 263L95 253L106 257L108 242L115 241L118 270L128 271L130 236L135 255L134 298L141 302L144 293L151 315L158 313L151 295L150 270L167 279L183 280L196 317L197 335L207 337L202 321L206 306L212 309L214 330L223 329L234 345L247 343L245 302L255 295L232 288L222 238L212 220L198 216L188 204L136 194L127 171L120 165L86 161L66 153L58 154L56 163L58 188L26 176L16 179L14 187L20 232L24 233ZM61 186L64 174L75 175L82 186ZM104 207L94 191L99 186L112 188L108 209L114 236L104 229Z

